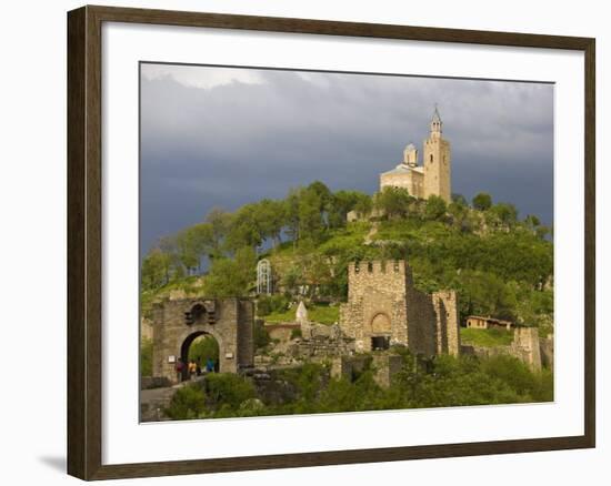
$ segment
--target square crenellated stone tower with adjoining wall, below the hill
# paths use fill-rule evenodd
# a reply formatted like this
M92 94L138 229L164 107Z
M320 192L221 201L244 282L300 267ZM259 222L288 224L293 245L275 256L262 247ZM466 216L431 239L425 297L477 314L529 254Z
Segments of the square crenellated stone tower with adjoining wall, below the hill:
M423 356L459 354L455 292L415 290L404 261L351 263L348 288L340 327L357 352L404 345Z

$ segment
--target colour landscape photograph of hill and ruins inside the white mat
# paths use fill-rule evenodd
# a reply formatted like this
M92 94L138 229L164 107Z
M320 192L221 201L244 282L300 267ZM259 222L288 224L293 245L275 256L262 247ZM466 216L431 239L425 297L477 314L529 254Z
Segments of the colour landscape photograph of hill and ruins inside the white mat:
M140 63L141 422L552 402L553 99Z

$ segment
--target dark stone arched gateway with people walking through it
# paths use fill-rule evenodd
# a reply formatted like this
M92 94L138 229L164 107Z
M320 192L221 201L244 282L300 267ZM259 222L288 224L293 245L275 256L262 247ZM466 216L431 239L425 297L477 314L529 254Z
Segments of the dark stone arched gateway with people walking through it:
M219 345L219 371L238 373L254 360L254 310L241 298L183 298L153 308L153 376L177 382L178 358L186 360L189 346L201 335Z

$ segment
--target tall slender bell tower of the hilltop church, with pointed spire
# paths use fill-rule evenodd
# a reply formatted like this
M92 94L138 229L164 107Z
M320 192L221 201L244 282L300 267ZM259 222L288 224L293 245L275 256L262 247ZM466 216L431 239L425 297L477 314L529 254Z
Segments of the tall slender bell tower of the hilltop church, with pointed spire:
M439 195L447 203L451 202L451 160L450 142L442 136L441 117L435 107L431 119L431 132L424 140L424 199Z

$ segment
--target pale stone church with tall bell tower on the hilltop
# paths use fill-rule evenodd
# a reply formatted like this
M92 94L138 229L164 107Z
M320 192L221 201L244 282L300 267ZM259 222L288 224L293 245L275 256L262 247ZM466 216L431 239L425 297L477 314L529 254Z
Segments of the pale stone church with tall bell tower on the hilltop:
M422 165L413 143L405 146L403 161L394 169L380 174L380 191L384 188L407 189L411 195L428 199L438 195L451 202L450 142L442 136L442 122L435 107L430 123L429 138L423 142Z

